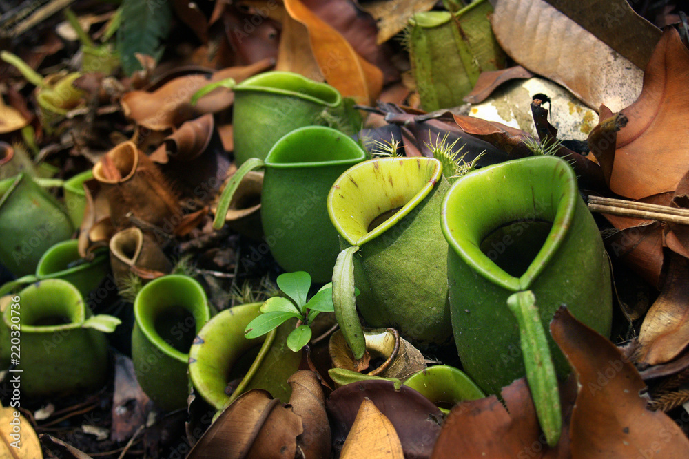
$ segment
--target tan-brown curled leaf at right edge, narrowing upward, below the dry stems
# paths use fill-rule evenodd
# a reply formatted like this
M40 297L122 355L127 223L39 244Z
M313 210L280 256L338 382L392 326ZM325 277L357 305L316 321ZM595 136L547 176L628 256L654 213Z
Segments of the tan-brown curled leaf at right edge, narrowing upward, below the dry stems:
M668 274L659 297L639 331L635 360L658 365L675 359L689 344L689 260L670 255Z

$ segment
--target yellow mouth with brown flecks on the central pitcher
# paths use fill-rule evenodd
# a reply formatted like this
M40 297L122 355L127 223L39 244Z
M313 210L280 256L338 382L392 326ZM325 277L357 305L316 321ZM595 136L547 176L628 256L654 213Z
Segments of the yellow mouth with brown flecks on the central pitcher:
M409 214L431 193L441 176L442 164L433 158L361 162L333 184L327 199L330 220L349 244L361 246ZM387 217L387 213L392 215ZM369 230L377 219L384 220Z

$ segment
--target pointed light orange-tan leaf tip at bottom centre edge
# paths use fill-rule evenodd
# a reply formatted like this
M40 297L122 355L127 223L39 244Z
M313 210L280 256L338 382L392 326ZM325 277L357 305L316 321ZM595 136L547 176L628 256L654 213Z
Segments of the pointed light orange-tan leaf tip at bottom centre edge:
M362 401L340 453L342 459L364 457L369 459L404 458L402 444L395 432L395 427L368 398Z

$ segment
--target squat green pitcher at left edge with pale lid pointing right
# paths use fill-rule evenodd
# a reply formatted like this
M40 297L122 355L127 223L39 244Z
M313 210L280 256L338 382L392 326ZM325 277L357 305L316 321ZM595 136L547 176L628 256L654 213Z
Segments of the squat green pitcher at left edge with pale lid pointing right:
M62 279L39 281L2 301L3 365L19 361L23 394L65 394L105 383L103 332L112 332L119 319L93 316L79 290Z

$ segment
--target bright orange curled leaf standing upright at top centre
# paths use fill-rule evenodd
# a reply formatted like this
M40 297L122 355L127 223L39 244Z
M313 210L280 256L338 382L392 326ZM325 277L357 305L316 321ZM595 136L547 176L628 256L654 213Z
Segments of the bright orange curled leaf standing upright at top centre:
M309 30L313 56L326 81L344 97L372 104L382 89L382 71L362 58L340 32L320 19L300 0L285 0L292 19Z

